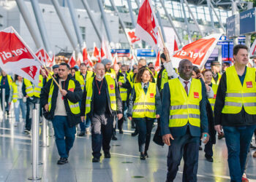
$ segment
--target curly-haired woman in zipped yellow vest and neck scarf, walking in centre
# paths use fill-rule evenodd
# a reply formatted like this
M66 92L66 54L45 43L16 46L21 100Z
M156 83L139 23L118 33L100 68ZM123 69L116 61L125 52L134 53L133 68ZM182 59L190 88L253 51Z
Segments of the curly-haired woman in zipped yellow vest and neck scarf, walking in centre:
M134 119L138 127L140 159L148 157L148 146L154 119L159 118L161 98L157 84L152 82L148 68L141 68L136 75L135 84L129 98L127 116Z

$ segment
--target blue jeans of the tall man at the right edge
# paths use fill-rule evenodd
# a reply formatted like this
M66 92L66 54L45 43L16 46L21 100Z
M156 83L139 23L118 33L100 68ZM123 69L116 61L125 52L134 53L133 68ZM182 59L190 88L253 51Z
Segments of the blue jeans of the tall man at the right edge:
M256 125L246 127L223 126L228 151L228 167L231 181L241 182L244 173L249 144Z

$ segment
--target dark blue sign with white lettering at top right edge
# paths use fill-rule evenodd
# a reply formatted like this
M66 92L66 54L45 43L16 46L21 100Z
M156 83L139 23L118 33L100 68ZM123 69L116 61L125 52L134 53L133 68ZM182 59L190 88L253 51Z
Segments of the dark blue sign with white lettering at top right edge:
M256 8L240 12L240 34L254 33L256 31L255 13Z

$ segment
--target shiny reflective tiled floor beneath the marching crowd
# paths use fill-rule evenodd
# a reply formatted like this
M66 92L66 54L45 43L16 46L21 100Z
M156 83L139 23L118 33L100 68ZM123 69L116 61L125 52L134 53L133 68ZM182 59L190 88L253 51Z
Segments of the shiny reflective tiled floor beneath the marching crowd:
M23 126L20 123L14 127L12 118L0 122L0 181L28 181L32 175L31 136L23 134ZM49 137L50 147L39 148L39 161L43 162L38 165L39 176L47 182L165 181L167 146L162 148L151 141L149 158L141 161L138 137L133 138L130 133L130 124L126 122L124 134L117 134L118 141L111 141L111 159L102 157L99 163L91 162L91 136L77 137L66 165L56 165L59 155L53 137ZM256 159L252 152L247 175L250 181L256 181ZM181 181L182 166L183 162L176 181ZM197 181L230 181L224 139L214 146L213 163L207 162L200 151L197 174Z

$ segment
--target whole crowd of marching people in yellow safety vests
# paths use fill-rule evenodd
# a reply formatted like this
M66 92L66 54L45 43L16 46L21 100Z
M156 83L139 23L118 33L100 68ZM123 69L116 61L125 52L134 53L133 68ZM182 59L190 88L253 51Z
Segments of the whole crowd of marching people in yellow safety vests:
M41 115L53 123L58 165L68 162L78 125L79 136L91 133L92 162L99 162L101 149L105 158L111 157L110 141L118 140L116 129L122 134L125 122L132 123L140 159L145 160L157 123L154 141L169 146L166 181L176 178L182 157L183 181L197 181L199 150L204 144L206 160L213 162L216 136L225 138L231 181L248 181L249 148L256 135L256 76L255 68L247 66L248 48L234 47L233 66L223 63L221 68L213 61L211 69L203 70L187 59L173 68L168 54L164 49L160 55L158 73L146 59L131 68L112 65L108 59L94 68L61 63L53 66L51 74L42 68L37 85L17 75L13 80L1 71L0 91L5 89L6 102L1 107L8 116L13 102L14 125L23 120L29 134L32 110L40 104Z

